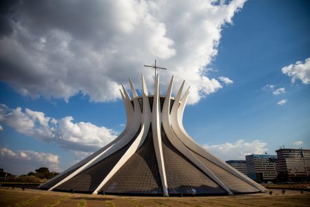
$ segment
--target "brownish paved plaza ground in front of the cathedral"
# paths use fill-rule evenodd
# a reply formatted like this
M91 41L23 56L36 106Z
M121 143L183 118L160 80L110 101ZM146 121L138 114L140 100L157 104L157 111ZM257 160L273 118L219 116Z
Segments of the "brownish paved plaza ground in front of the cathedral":
M21 188L0 188L0 206L309 206L310 193L295 190L273 190L273 195L210 197L128 197L49 192Z

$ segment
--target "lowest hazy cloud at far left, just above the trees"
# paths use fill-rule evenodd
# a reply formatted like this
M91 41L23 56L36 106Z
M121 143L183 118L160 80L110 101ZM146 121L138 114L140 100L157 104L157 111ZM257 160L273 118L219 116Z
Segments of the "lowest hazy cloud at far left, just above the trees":
M47 152L32 150L12 151L9 148L0 148L0 165L7 172L25 174L40 167L48 167L59 172L59 156Z

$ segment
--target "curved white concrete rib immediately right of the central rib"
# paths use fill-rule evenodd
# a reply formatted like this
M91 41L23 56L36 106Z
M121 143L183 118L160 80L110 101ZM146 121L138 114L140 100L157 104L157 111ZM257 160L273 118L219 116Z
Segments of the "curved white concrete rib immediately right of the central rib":
M200 170L205 172L205 174L209 178L211 178L216 184L218 184L218 186L223 188L227 192L228 195L234 195L233 193L231 193L229 188L227 188L225 184L223 184L220 181L220 179L218 179L218 177L216 177L216 175L214 175L213 172L211 172L209 168L207 168L174 134L174 130L172 130L171 128L170 115L169 115L170 98L172 94L172 84L173 84L173 77L170 81L169 88L167 90L167 94L166 94L165 102L163 106L163 112L162 112L163 128L166 132L167 138L179 152L185 155L185 157L187 157L187 159L192 161L192 163L196 165L198 168L200 168ZM182 86L180 87L180 90L178 91L178 94L176 95L176 98L174 100L174 106L178 106L178 102L180 100L180 94L182 92L183 85L184 85L184 81L182 83Z

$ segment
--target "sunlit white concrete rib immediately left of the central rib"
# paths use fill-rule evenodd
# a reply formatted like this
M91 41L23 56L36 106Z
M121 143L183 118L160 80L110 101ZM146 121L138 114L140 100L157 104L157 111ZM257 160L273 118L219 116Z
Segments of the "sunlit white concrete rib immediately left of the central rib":
M143 113L142 113L142 117L140 119L141 122L138 121L139 123L141 123L141 131L138 134L138 137L136 137L136 139L134 140L134 142L130 146L130 148L128 148L128 150L125 152L125 154L116 163L114 168L112 168L112 170L109 172L109 174L107 174L105 179L103 179L101 184L96 188L96 190L94 190L94 192L92 193L93 195L98 194L98 191L107 183L107 181L109 181L113 177L113 175L115 175L116 172L123 166L123 164L125 164L125 162L128 161L130 159L130 157L132 157L132 155L134 155L134 152L136 152L136 150L138 150L138 148L141 147L141 145L145 141L145 138L147 137L147 133L149 132L149 126L151 125L151 109L149 107L149 98L147 97L148 93L147 93L147 88L146 88L146 84L145 84L145 80L144 80L143 75L142 75L142 82L143 82L143 95L142 95ZM134 101L135 100L136 100L136 102L138 102L138 98L135 98ZM136 106L136 104L138 104L138 103L134 102L134 106ZM141 110L140 109L136 110L136 107L135 107L134 113L136 114L138 112L140 112L140 114L141 114Z

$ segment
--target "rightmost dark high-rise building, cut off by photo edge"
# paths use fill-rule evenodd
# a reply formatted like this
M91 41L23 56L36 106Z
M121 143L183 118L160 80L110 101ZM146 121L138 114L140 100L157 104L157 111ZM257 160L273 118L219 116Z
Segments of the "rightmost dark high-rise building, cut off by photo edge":
M306 181L310 175L310 150L279 149L276 167L279 181Z

